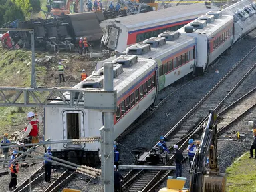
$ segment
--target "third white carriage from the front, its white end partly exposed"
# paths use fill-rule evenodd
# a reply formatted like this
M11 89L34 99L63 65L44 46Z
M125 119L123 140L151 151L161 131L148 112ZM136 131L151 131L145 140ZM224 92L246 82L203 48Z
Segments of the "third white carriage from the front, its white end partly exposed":
M210 63L233 43L233 17L221 11L209 11L182 27L178 32L197 38L197 73L207 70Z

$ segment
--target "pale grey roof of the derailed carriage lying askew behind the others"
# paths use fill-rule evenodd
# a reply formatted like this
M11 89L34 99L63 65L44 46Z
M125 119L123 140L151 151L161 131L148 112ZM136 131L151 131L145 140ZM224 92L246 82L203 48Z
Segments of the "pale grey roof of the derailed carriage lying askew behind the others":
M144 28L144 26L153 27L155 25L170 23L170 21L176 22L180 20L185 21L195 19L211 10L219 10L219 8L213 5L206 6L203 5L203 3L196 3L140 13L137 15L129 15L118 19L108 19L102 21L102 23L115 22L118 23L118 25L124 25L129 31L134 31L136 29Z

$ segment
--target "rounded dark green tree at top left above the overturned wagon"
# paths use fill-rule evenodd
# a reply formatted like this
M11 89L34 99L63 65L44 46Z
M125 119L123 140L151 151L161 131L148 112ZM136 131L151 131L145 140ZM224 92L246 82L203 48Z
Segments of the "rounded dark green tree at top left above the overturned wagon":
M25 21L25 17L21 10L21 7L18 7L17 5L11 5L11 7L9 7L9 9L5 12L5 23L9 21L14 21L16 19L20 19L20 21Z

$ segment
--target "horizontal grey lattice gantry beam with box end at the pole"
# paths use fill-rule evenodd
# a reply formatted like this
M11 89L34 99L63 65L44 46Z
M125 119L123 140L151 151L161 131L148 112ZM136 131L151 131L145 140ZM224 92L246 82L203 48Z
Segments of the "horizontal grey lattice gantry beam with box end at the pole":
M6 95L10 95L9 98ZM78 97L70 98L70 95ZM91 88L0 87L0 107L66 107L115 112L116 95L113 90Z

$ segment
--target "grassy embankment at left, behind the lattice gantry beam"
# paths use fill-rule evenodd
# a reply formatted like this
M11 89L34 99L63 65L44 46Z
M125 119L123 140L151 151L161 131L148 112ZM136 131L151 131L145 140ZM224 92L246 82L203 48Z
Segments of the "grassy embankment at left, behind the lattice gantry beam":
M0 48L0 51L0 86L30 87L31 51L8 51L3 48ZM42 56L35 55L36 58ZM45 79L47 69L44 66L35 66L37 85L44 85L45 82L41 79ZM13 97L13 95L14 92L9 91L7 97ZM37 94L37 96L43 95ZM18 107L0 107L0 137L3 133L10 131L12 126L23 125L27 111L34 111L34 109L23 107L23 112L21 112L18 111Z

